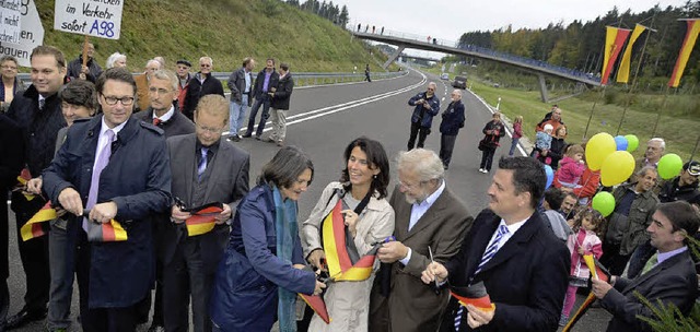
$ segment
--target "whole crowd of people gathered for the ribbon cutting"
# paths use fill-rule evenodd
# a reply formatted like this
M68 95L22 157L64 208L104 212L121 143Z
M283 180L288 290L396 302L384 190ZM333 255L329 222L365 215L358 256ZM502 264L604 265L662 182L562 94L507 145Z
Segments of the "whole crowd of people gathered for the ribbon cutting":
M599 173L585 168L583 145L564 143L561 109L537 126L548 138L538 134L542 144L532 156L493 162L505 134L495 112L479 142L479 170L495 168L489 203L474 217L445 180L465 123L462 92L442 111L438 154L423 149L440 114L429 83L408 102L410 137L393 190L383 144L360 137L342 152L338 180L301 216L298 200L316 168L284 144L294 86L288 64L277 70L267 59L254 78L255 60L244 59L226 100L209 57L194 74L187 60L174 72L155 57L136 76L121 67L124 55L109 57L104 71L77 60L70 69L60 50L36 47L23 91L12 76L16 60L0 59L9 104L0 115L0 185L12 194L26 285L24 306L0 317L0 330L46 319L49 331L66 331L77 280L83 331L135 331L148 321L150 331L556 331L576 288L587 286L587 253L626 276L592 282L614 316L610 331L650 329L637 315L652 317L651 309L633 290L684 315L698 297L687 237L700 227L700 163L658 186L661 139L648 143L635 176L614 189L616 209L604 220L587 206ZM249 188L250 155L234 142L262 140L270 115L266 140L280 149ZM549 189L544 164L557 169ZM30 222L50 209L46 224ZM472 286L493 306L451 296ZM331 320L298 309L300 295L320 296Z

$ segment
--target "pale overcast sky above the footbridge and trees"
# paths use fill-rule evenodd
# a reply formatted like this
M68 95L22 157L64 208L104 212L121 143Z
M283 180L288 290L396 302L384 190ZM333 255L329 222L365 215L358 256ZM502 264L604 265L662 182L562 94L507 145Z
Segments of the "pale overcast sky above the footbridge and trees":
M328 1L328 0L327 0ZM303 2L303 1L302 1ZM562 21L593 21L617 5L620 13L639 13L658 3L681 7L686 0L335 0L348 5L350 23L377 31L398 31L415 35L458 40L466 32L493 31L509 24L521 27L547 27Z

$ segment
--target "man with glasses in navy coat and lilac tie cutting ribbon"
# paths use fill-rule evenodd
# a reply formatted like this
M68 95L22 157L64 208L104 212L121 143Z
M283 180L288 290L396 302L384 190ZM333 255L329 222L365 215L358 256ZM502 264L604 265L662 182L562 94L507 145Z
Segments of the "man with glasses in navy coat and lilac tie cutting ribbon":
M155 274L152 223L171 206L171 168L163 131L131 117L136 82L124 68L97 79L103 115L74 123L44 171L44 191L80 224L78 253L83 331L135 331L137 305ZM85 210L83 210L85 209ZM126 239L88 240L105 224Z

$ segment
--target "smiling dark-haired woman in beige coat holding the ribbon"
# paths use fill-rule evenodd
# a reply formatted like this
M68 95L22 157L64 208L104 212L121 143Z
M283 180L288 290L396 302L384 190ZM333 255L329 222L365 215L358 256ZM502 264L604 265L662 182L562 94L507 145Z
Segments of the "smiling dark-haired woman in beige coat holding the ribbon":
M348 208L343 210L347 232L353 238L359 257L363 257L376 242L383 241L394 233L394 210L386 201L386 187L389 182L389 163L382 144L368 138L359 138L345 151L346 169L340 182L330 182L318 199L308 220L302 225L302 245L308 262L325 269L325 259L320 230L328 213L342 200ZM354 211L368 197L366 206L359 215ZM358 282L330 282L324 300L330 324L314 316L308 331L368 331L370 290L380 261L374 265L372 275Z

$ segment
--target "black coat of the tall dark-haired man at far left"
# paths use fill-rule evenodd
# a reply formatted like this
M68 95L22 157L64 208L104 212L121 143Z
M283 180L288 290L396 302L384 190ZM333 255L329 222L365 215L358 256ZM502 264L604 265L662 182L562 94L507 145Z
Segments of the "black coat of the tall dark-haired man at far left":
M58 94L46 98L44 110L39 110L39 93L31 85L22 95L16 95L8 110L24 137L24 159L33 177L37 177L54 159L58 130L66 127Z

